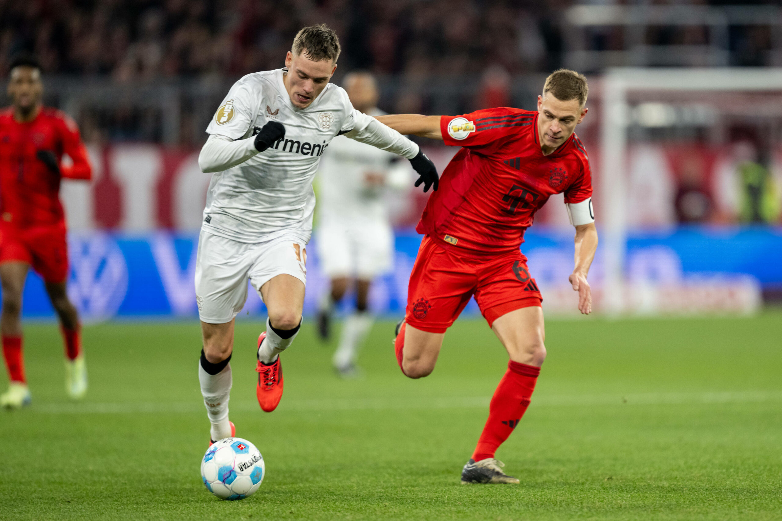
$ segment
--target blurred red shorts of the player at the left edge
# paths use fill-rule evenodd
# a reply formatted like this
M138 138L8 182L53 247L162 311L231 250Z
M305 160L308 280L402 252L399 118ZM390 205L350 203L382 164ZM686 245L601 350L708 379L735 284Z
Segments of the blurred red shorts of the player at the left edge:
M45 282L59 283L68 277L68 244L61 224L17 230L0 227L0 264L27 262Z

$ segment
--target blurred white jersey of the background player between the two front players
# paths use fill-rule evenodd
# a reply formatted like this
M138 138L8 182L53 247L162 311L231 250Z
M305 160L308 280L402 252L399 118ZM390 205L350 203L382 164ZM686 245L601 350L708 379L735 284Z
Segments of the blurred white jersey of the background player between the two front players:
M384 113L368 112L370 116ZM385 186L368 185L364 180L367 173L385 177ZM335 137L317 174L318 219L386 222L390 200L386 187L403 189L410 184L411 175L410 162L401 156L345 136Z

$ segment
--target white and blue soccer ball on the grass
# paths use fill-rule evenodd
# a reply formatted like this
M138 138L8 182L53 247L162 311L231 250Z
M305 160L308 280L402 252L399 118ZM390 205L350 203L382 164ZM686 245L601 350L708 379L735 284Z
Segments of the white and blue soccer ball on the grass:
M201 460L203 484L221 499L244 499L255 494L265 470L264 456L240 437L217 441Z

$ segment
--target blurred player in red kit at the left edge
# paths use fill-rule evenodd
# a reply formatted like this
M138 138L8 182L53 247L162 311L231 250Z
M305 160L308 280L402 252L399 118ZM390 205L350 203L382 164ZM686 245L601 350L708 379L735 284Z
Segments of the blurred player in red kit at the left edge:
M74 120L41 104L41 67L31 58L11 63L8 95L0 112L0 334L9 390L0 406L30 403L22 359L22 291L27 269L43 278L65 340L66 390L71 398L87 391L80 326L66 294L68 255L59 183L63 177L88 180L91 166ZM67 154L72 166L60 163Z

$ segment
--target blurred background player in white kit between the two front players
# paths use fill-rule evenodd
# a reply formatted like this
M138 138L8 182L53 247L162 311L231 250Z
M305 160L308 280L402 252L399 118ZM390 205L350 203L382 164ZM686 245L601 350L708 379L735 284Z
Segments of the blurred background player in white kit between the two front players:
M370 73L347 74L343 82L353 108L384 114L375 105L378 87ZM335 137L318 172L317 251L331 280L318 309L318 333L330 336L332 312L355 280L356 309L346 317L332 362L343 377L357 376L356 359L373 317L371 280L393 267L389 191L411 186L411 168L400 156L352 139Z

